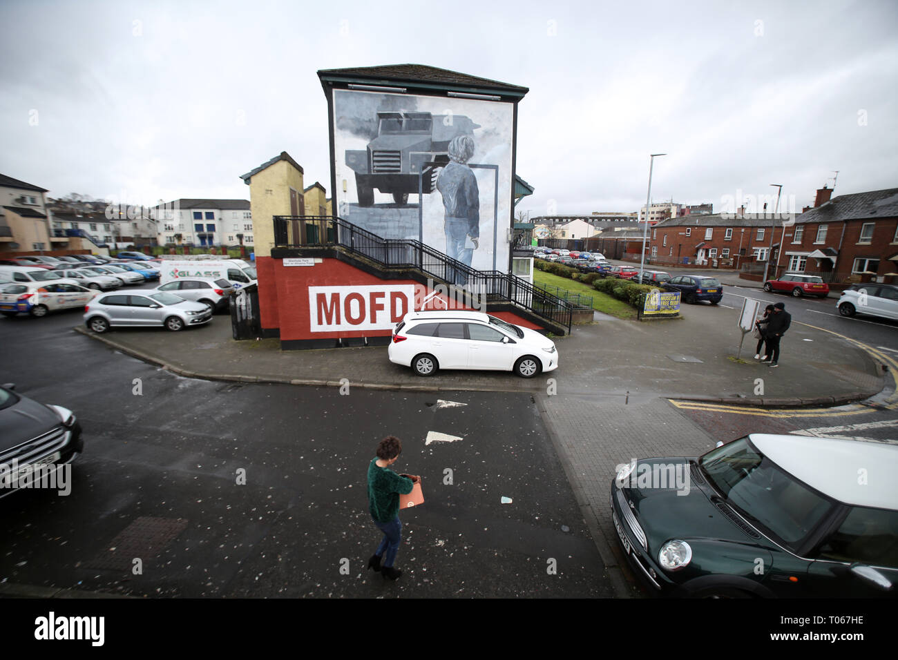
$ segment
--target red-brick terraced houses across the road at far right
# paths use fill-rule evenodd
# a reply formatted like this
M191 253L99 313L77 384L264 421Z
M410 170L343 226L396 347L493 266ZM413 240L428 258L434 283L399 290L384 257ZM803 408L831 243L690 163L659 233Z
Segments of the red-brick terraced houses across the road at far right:
M884 281L898 260L898 188L830 198L789 223L772 214L685 216L650 230L648 259L657 265L738 268L761 279L813 273L831 283ZM785 224L784 224L785 223Z

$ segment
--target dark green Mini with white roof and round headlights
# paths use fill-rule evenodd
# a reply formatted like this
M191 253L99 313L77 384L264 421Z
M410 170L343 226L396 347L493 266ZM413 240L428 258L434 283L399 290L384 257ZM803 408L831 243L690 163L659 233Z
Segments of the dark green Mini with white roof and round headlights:
M898 596L894 444L752 434L619 468L612 522L656 594Z

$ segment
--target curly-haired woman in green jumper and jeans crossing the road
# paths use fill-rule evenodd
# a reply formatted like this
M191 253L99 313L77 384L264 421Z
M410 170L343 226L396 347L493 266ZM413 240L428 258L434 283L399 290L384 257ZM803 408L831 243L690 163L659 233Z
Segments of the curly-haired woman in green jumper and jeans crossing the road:
M413 484L421 479L416 475L401 476L390 469L401 453L400 439L386 436L377 445L377 458L368 465L368 509L374 524L383 532L383 540L368 560L368 568L380 571L384 579L389 577L391 580L402 575L401 570L393 568L402 540L399 496L408 495Z

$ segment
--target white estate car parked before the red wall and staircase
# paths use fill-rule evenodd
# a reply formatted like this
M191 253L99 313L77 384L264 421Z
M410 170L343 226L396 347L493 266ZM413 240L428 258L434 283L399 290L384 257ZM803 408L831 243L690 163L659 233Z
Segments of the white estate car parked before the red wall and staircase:
M559 365L551 339L483 312L409 312L393 330L387 353L419 376L495 369L533 378Z

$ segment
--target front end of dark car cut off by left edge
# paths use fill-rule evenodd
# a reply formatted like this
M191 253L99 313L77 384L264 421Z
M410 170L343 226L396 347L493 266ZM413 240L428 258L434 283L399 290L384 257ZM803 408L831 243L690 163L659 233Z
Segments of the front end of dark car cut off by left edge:
M26 475L49 477L84 451L75 413L38 403L13 392L14 387L0 387L0 497L15 492Z

